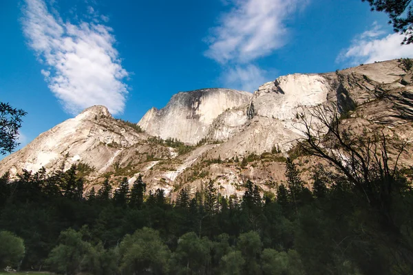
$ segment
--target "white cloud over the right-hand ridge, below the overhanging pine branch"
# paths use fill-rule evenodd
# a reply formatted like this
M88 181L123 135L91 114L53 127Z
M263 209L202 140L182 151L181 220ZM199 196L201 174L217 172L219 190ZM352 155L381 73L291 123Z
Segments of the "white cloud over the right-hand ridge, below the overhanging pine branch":
M336 61L359 65L360 63L413 57L413 44L401 45L402 41L403 35L388 34L374 22L370 30L356 36L350 47L341 51Z

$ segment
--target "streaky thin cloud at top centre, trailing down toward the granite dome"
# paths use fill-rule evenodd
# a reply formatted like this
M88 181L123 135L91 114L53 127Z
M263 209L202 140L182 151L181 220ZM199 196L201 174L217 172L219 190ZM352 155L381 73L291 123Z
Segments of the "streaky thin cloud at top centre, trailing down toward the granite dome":
M223 14L218 26L211 29L205 56L222 64L226 83L238 81L248 91L266 78L265 71L253 61L272 54L286 45L289 30L286 22L304 8L307 0L233 0L233 8ZM261 81L261 82L260 82ZM253 86L254 85L254 86ZM253 88L252 88L253 87Z

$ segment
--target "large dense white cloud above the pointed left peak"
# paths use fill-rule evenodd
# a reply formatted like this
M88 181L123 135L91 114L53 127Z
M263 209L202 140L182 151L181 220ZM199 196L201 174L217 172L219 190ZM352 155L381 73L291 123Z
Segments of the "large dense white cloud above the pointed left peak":
M94 12L92 7L88 11ZM25 0L22 23L30 47L47 66L41 73L66 111L76 114L102 104L112 114L123 112L128 72L120 64L111 28L96 20L63 21L43 0Z

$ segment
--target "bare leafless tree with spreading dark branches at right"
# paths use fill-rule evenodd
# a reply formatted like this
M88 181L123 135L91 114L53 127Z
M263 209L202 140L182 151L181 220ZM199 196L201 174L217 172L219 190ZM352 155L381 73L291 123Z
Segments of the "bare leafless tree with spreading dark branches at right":
M389 138L385 128L354 126L352 118L343 120L335 104L306 108L297 117L304 134L299 149L326 159L345 175L350 188L379 213L381 227L398 243L401 256L413 263L413 243L405 239L396 222L393 201L410 188L400 175L399 164L409 142Z

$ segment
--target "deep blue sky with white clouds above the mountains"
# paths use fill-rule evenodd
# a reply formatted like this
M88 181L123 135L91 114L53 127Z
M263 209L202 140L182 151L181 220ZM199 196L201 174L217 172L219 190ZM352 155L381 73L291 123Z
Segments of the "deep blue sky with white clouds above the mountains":
M138 122L178 91L254 91L278 76L413 57L361 0L0 3L0 101L27 144L85 107Z

